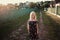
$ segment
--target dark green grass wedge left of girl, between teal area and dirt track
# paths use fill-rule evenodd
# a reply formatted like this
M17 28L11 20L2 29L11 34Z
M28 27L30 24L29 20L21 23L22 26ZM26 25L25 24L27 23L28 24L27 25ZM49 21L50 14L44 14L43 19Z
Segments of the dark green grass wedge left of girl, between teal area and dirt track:
M8 20L8 21L1 23L0 36L6 37L12 31L16 30L21 25L23 25L27 21L27 19L28 19L28 14L18 17L17 19Z

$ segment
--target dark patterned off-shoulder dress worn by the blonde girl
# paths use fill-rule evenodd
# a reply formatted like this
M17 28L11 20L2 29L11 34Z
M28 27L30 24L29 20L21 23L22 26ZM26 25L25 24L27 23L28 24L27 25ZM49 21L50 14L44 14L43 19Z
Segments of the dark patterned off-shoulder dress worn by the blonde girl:
M37 21L29 21L29 35L31 39L37 39Z

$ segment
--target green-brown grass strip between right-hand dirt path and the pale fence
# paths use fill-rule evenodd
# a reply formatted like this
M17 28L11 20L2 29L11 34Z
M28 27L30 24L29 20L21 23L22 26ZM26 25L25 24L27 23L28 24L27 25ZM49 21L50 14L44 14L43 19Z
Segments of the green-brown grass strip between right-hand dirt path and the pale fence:
M48 30L47 38L50 40L60 40L60 24L48 16L47 13L43 13L43 21Z

